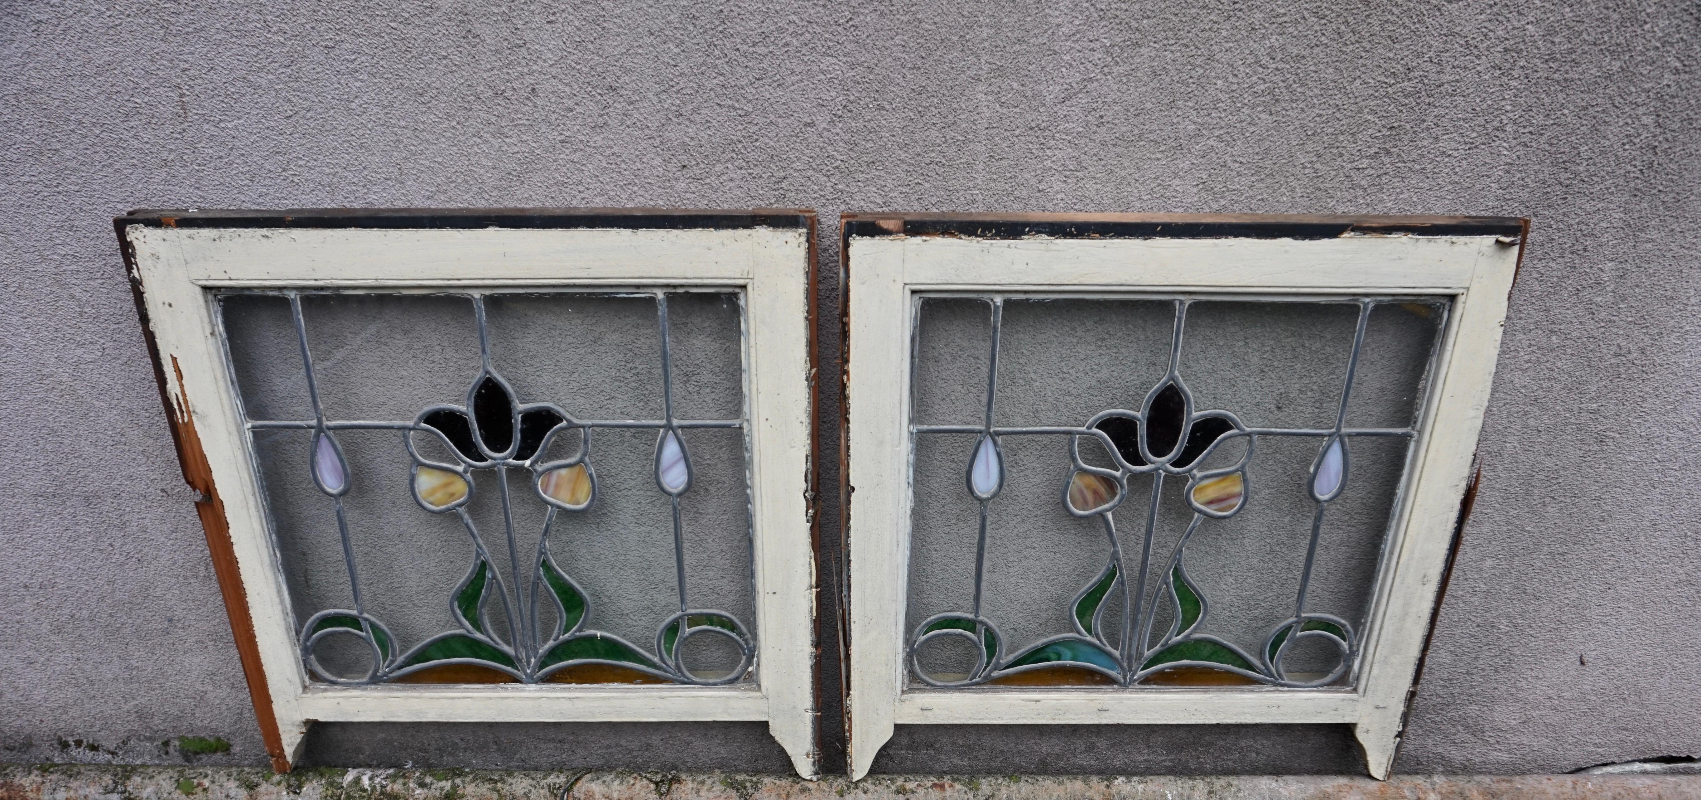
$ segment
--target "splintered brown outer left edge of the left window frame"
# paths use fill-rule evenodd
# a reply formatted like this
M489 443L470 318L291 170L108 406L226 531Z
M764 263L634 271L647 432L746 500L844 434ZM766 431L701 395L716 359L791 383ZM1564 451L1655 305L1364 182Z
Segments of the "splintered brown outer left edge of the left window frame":
M141 337L148 347L148 359L153 363L153 380L160 390L160 403L165 407L165 420L172 431L172 444L177 448L177 463L182 468L184 482L201 494L196 500L196 516L208 540L208 553L213 558L213 574L218 577L219 594L225 599L225 613L230 616L230 631L236 643L236 657L242 660L242 676L248 683L248 700L253 703L253 717L260 727L260 740L270 756L272 769L287 773L289 756L284 752L282 730L277 727L277 713L272 710L272 691L265 683L265 667L260 664L260 640L253 631L253 616L248 609L248 597L242 586L242 572L236 565L236 548L230 538L230 521L225 516L225 500L219 499L213 482L213 468L208 463L201 436L196 432L194 417L189 410L189 397L179 393L172 397L167 381L165 359L160 344L153 335L153 323L148 318L146 289L141 286L141 269L136 266L136 249L124 235L126 218L112 221L117 231L119 250L124 257L124 272L129 277L131 298L136 301L136 318L141 322ZM179 390L184 385L184 373L172 357L172 374Z

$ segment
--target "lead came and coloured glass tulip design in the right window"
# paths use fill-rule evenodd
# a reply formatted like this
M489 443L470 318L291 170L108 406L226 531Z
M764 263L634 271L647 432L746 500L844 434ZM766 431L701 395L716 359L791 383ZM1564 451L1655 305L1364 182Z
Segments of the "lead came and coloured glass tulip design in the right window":
M1317 565L1318 543L1325 511L1345 485L1349 471L1347 441L1356 437L1395 437L1412 439L1417 436L1415 426L1408 427L1347 427L1347 405L1356 380L1359 356L1364 347L1369 313L1378 305L1373 298L1354 298L1351 303L1357 310L1357 323L1352 334L1352 349L1347 356L1345 378L1335 407L1332 427L1249 427L1226 410L1196 410L1192 391L1187 388L1180 371L1180 352L1186 334L1187 310L1191 298L1174 298L1174 322L1170 329L1169 368L1158 383L1145 395L1141 409L1112 409L1101 412L1085 426L993 426L993 410L998 380L998 349L1002 340L1004 296L981 296L992 306L990 357L987 371L987 405L978 426L932 426L910 424L910 446L915 448L920 434L976 434L975 456L968 470L968 490L978 500L978 536L975 548L975 596L966 614L941 613L920 623L912 633L907 659L910 674L929 686L954 688L975 686L998 677L1044 669L1053 666L1094 671L1107 676L1119 686L1143 683L1148 676L1172 669L1215 669L1240 674L1252 681L1284 688L1327 686L1345 674L1357 655L1357 637L1352 626L1334 614L1306 613L1306 592ZM920 363L920 315L922 303L917 300L912 308L912 376L910 409L917 407L913 393L919 386L915 364ZM1431 349L1434 363L1436 349ZM1177 409L1179 405L1179 409ZM1162 429L1163 432L1155 432ZM1041 638L1014 655L1004 655L1004 638L992 620L983 613L983 582L987 572L987 540L990 500L1002 487L1004 458L998 439L1004 436L1065 436L1075 471L1063 492L1065 507L1077 517L1097 516L1109 540L1109 565L1092 584L1077 592L1072 618L1077 633ZM1155 437L1162 437L1155 439ZM1308 489L1317 502L1311 531L1306 546L1305 567L1294 597L1294 614L1279 623L1267 635L1257 654L1249 654L1240 647L1201 633L1204 618L1209 613L1206 596L1187 577L1186 548L1194 533L1208 519L1225 519L1238 514L1250 502L1245 470L1250 463L1257 441L1266 436L1311 437L1322 439L1317 461L1313 461ZM1099 441L1111 460L1114 470L1089 466L1078 454L1082 437ZM1174 439L1170 439L1174 437ZM1243 453L1226 465L1206 468L1211 456L1225 443L1245 439ZM910 456L913 468L913 449ZM1123 546L1112 519L1112 511L1124 500L1128 483L1140 475L1152 475L1150 495L1145 509L1145 531L1138 565L1129 579L1129 563L1124 563ZM1162 575L1152 575L1155 534L1158 528L1158 509L1162 507L1163 487L1170 477L1187 478L1184 499L1192 507L1192 519L1186 531L1175 540ZM1092 507L1077 507L1084 502ZM1104 626L1101 623L1106 601L1114 592L1121 596L1121 640L1116 650L1109 650ZM1163 633L1153 642L1157 630L1158 601L1167 599L1172 618ZM947 674L929 674L920 662L920 650L925 643L941 637L968 637L975 640L978 664L961 677ZM1337 666L1325 672L1293 676L1283 666L1288 647L1300 638L1322 638L1332 642L1340 659Z

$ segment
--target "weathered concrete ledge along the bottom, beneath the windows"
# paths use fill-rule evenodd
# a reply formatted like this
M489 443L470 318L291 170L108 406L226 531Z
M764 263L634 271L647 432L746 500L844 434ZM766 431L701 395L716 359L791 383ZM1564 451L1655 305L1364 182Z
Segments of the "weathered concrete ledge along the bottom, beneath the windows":
M0 766L0 800L1180 800L1701 798L1692 774L1068 778Z

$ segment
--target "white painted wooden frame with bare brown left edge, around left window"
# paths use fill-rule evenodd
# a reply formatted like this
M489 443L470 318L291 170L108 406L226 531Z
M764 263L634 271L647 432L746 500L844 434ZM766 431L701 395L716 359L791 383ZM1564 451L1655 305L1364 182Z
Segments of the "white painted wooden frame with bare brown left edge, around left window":
M184 471L206 495L201 516L214 563L219 565L225 555L233 558L233 580L221 584L238 649L245 650L262 732L279 771L296 761L315 720L765 720L798 774L820 774L810 506L813 214L208 211L134 213L116 223ZM286 599L248 432L219 339L213 294L226 288L721 288L742 293L757 683L725 688L310 683L294 628L299 620L293 620ZM243 620L252 628L248 637ZM269 720L274 730L265 730Z

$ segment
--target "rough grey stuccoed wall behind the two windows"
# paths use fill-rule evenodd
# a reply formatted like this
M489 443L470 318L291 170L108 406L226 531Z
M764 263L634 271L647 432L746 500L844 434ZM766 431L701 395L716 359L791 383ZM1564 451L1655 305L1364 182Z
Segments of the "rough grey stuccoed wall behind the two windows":
M636 204L820 209L825 352L845 209L1534 218L1398 769L1701 752L1698 34L1686 2L7 3L0 757L264 761L114 213ZM503 730L310 752L784 769L750 727ZM903 729L879 766L1357 769L1279 727Z

